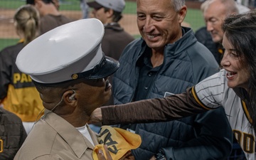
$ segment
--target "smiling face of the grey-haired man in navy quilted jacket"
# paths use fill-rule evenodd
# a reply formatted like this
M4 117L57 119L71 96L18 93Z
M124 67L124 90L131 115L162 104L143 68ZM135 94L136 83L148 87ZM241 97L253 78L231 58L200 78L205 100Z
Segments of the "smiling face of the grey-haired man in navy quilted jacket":
M182 36L186 6L175 11L170 0L137 0L137 25L149 48L163 50Z

